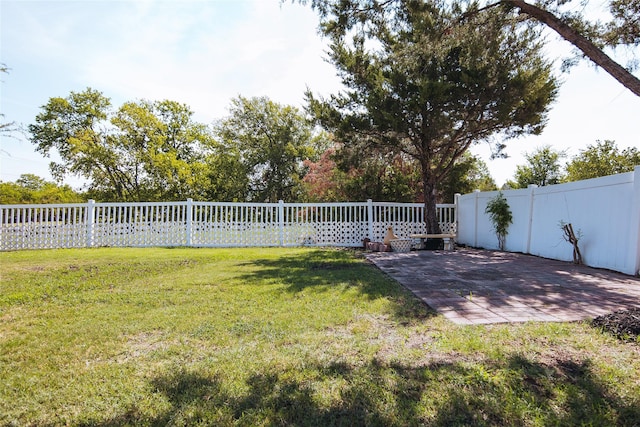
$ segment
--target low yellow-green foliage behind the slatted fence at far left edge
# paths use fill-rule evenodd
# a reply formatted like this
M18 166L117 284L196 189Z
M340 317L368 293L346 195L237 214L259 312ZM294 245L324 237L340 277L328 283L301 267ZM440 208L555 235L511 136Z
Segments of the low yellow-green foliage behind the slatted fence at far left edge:
M0 204L80 203L86 197L68 185L57 185L33 174L20 175L15 182L0 181Z

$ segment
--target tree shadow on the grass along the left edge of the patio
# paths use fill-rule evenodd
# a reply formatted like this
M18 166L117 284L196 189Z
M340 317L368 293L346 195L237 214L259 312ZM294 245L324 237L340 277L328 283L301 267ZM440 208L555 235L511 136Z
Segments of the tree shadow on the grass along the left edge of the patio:
M239 276L247 282L277 283L290 293L355 289L371 300L388 298L394 303L396 320L401 322L437 314L353 250L318 249L277 259L256 259L248 264L258 268Z

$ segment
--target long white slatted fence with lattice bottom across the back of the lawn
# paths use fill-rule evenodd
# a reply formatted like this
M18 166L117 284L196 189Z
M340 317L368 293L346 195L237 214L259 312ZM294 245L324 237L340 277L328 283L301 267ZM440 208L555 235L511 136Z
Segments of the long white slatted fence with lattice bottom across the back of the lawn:
M438 205L443 232L456 205ZM99 246L362 246L426 232L420 203L88 203L0 206L0 250Z

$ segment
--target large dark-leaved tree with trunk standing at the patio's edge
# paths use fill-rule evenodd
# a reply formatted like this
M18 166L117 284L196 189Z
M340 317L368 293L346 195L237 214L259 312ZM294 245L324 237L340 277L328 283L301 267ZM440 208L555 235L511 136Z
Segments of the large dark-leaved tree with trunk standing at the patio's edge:
M356 22L332 10L323 28L348 90L328 100L307 94L311 111L345 146L417 162L430 233L439 232L438 183L456 160L473 143L539 132L556 93L535 31L504 13L468 11L408 1L393 3L378 15L384 19Z

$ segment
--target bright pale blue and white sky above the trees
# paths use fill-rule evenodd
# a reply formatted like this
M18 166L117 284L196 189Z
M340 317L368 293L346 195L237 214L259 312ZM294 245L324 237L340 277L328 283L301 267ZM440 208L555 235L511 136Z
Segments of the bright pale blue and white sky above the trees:
M322 96L341 89L317 25L308 6L280 0L0 0L0 62L9 68L0 76L0 120L26 128L50 98L87 87L115 108L178 101L201 123L224 118L239 95L302 108L306 88ZM550 57L569 53L568 43L548 40ZM546 145L565 161L597 140L640 148L640 97L586 61L557 74L563 83L541 135L506 141L507 159L491 160L485 144L472 149L499 186ZM2 181L26 173L51 180L52 159L26 134L0 135Z

